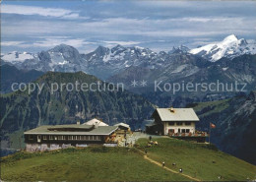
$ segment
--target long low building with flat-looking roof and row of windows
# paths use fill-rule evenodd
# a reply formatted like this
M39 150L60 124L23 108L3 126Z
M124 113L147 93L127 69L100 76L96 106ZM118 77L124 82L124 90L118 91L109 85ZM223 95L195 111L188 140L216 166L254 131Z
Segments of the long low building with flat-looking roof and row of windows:
M88 145L116 146L114 133L117 126L96 125L54 125L39 126L24 133L28 152Z

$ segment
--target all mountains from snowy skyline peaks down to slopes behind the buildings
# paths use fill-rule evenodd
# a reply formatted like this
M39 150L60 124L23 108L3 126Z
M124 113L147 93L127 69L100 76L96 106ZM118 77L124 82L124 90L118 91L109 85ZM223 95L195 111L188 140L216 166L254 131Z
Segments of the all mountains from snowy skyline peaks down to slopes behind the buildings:
M91 53L81 54L72 46L60 44L37 54L1 54L1 70L1 92L9 92L0 96L1 142L7 148L17 148L23 131L41 124L65 124L78 118L83 121L100 117L108 124L125 121L135 129L143 127L143 121L150 118L156 105L185 107L190 104L202 121L197 126L199 129L205 130L210 121L217 124L212 134L214 144L253 163L254 151L250 149L255 128L255 44L235 35L195 49L181 45L159 53L149 48L117 45L98 46ZM123 83L126 91L50 93L51 83L100 80ZM10 92L13 82L32 81L45 84L40 96L38 90L32 94ZM136 87L133 81L137 82ZM178 91L174 94L154 91L155 81L163 84L238 82L246 84L246 91Z

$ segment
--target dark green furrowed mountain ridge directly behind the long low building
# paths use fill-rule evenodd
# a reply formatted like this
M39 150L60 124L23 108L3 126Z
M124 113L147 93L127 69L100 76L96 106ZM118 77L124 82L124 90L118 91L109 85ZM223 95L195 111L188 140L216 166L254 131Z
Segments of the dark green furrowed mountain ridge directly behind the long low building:
M76 81L80 86L86 83L88 89L92 84L101 82L83 72L49 72L35 81L42 87L41 91L36 87L31 94L28 91L16 91L1 95L1 140L7 141L7 147L19 141L11 137L14 133L20 132L22 136L23 131L39 125L74 123L77 119L83 122L99 117L109 125L127 122L132 128L139 128L154 110L154 105L140 95L122 90L101 91L94 88L96 91L83 91L80 87L75 90ZM70 91L68 83L73 84L74 91ZM100 89L104 86L101 84Z

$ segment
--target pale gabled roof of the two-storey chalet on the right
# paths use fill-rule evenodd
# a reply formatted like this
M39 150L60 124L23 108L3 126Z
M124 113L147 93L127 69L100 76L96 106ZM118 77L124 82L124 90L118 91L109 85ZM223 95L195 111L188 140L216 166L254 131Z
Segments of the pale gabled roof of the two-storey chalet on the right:
M199 121L193 108L157 108L152 117L157 113L161 121Z

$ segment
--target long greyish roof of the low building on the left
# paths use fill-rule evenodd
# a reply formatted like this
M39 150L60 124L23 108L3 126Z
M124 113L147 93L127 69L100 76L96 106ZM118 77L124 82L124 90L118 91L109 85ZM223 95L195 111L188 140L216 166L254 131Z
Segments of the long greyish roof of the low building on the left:
M25 135L110 135L117 130L117 126L92 125L43 125L25 132Z

